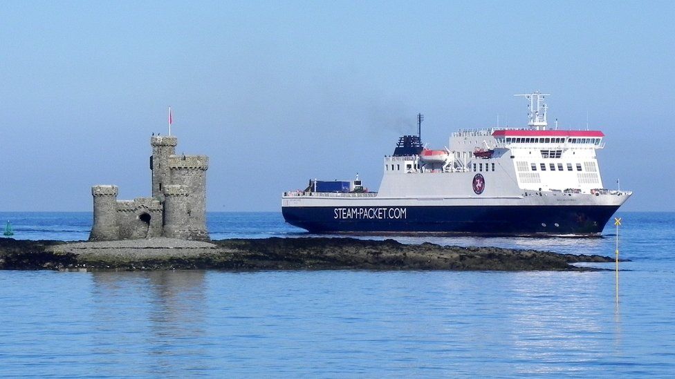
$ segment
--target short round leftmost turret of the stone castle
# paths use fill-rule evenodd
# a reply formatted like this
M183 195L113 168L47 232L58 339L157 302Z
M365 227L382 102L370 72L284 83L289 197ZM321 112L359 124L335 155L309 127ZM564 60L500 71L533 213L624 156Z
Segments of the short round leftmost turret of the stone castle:
M118 187L100 185L91 187L94 198L94 222L89 240L117 240L119 229L117 224Z

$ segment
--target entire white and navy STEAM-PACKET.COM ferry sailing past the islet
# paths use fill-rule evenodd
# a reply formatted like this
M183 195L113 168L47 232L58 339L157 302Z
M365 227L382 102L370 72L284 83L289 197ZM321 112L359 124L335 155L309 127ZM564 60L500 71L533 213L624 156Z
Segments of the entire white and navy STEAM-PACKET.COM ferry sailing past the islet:
M600 235L632 195L602 184L604 134L549 128L548 94L517 96L528 99L526 128L459 130L435 150L419 132L405 135L385 157L378 192L358 177L311 179L282 195L284 219L311 233Z

